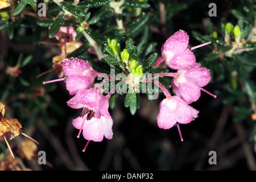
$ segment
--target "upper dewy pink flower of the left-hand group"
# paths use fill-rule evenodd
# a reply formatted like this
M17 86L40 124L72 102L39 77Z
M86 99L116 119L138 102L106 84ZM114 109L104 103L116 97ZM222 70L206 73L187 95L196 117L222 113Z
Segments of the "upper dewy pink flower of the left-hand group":
M69 94L74 95L79 90L88 89L94 84L94 70L90 63L72 57L71 59L64 59L62 67L67 76L66 87Z

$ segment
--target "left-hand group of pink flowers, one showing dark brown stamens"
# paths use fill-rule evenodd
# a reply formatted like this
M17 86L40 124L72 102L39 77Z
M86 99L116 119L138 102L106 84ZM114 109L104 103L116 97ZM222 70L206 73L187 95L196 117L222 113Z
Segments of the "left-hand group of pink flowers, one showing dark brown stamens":
M64 78L46 81L44 84L55 81L65 81L66 88L72 97L67 104L73 109L81 109L81 114L73 119L73 126L79 129L77 138L82 132L83 137L88 140L101 142L105 136L112 139L113 119L109 114L109 98L99 92L100 89L91 88L95 76L100 73L93 70L90 63L85 60L72 57L61 62L64 71ZM85 148L83 151L85 151Z

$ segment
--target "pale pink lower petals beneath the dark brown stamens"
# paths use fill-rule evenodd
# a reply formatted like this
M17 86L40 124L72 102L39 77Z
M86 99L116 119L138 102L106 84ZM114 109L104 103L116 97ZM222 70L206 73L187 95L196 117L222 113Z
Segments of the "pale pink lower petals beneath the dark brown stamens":
M73 119L73 126L76 129L82 129L82 136L86 140L92 140L94 142L101 142L103 138L112 139L113 137L113 119L105 118L101 115L100 118L91 118L86 120L87 114L82 117Z

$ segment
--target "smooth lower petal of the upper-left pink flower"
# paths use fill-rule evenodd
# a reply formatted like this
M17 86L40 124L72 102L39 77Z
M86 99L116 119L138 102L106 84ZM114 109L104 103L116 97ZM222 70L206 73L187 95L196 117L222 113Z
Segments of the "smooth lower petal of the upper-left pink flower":
M71 75L66 80L66 87L69 94L74 95L79 90L89 89L94 84L94 77Z

